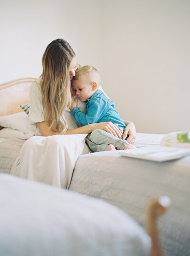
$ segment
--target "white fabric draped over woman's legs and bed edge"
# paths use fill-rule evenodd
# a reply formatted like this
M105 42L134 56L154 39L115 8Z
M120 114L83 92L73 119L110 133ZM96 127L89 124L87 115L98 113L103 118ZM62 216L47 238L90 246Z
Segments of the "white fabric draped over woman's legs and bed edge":
M68 188L87 134L34 136L22 146L17 175Z

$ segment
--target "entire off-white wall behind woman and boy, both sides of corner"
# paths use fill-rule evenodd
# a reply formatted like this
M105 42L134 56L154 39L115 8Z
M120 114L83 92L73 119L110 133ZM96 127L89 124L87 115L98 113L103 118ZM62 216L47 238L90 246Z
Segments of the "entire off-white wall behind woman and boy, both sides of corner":
M1 0L0 83L38 77L64 38L138 132L190 130L189 13L189 0Z

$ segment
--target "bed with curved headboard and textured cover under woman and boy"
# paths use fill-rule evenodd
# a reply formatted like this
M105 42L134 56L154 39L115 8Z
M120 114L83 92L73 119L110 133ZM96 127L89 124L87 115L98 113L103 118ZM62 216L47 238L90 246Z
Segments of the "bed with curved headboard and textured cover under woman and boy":
M36 135L35 129L19 126L28 118L19 106L29 102L28 89L34 80L19 79L0 86L0 116L12 115L9 116L9 120L4 119L7 126L0 127L1 173L19 176L17 171L22 145L27 138ZM18 118L15 117L16 113L22 121L15 127L17 123L15 120ZM159 145L164 136L137 133L135 145L136 147ZM86 148L85 153L87 152ZM101 198L121 208L142 227L145 227L145 207L150 199L168 195L172 201L171 208L158 223L161 230L161 245L167 256L188 256L190 255L189 181L190 156L157 163L125 158L117 151L97 152L78 157L68 189Z

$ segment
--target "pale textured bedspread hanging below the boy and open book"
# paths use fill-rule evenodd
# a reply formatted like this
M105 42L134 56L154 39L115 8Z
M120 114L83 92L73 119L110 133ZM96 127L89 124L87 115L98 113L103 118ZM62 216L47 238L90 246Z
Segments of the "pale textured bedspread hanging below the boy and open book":
M116 152L80 156L69 189L102 198L145 226L145 207L168 195L171 207L160 217L166 256L190 256L190 156L167 162L126 158Z

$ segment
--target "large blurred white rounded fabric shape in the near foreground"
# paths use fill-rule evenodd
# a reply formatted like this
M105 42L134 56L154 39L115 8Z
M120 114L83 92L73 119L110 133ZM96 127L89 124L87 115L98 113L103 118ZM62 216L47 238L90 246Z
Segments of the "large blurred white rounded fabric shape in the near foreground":
M148 256L132 217L76 192L0 175L0 255Z

